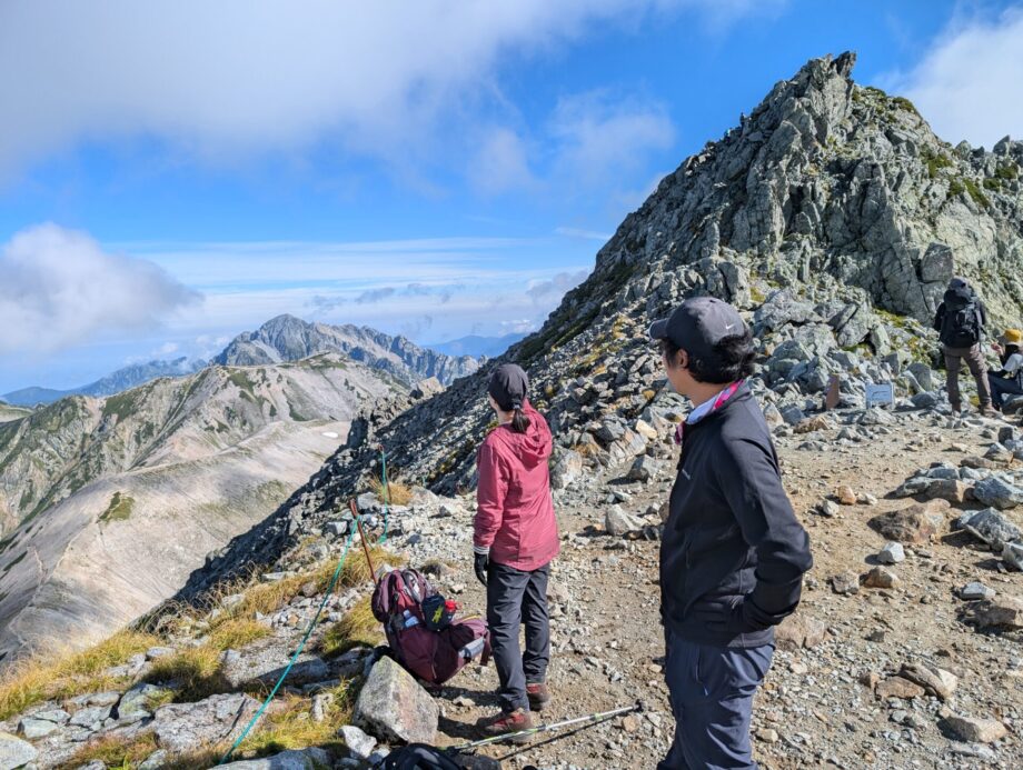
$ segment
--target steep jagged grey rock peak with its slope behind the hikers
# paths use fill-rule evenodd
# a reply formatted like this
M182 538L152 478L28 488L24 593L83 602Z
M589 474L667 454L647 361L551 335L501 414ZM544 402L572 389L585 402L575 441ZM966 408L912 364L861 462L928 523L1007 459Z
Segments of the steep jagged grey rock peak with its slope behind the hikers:
M947 280L971 280L992 323L1019 317L1023 143L952 148L907 100L856 84L854 61L814 59L777 83L626 217L538 332L379 427L374 443L391 471L436 491L470 489L491 421L486 380L501 361L528 370L557 437L556 466L565 450L595 467L656 453L650 436L684 407L666 392L645 330L699 294L746 314L759 346L751 387L783 427L818 408L832 378L844 407L864 406L867 382L894 382L914 398L908 407L938 404L930 321ZM886 419L868 410L862 423ZM180 596L318 531L376 461L366 443L339 451Z

